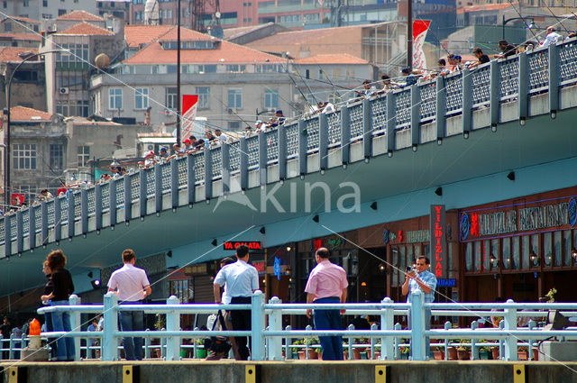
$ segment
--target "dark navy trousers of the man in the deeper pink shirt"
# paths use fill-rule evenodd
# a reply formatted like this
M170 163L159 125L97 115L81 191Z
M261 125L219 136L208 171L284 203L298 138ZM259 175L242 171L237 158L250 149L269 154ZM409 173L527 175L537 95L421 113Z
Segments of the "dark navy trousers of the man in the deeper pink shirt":
M314 303L339 303L341 299L328 296L316 299ZM340 310L315 310L313 322L316 330L342 330ZM319 336L323 348L323 360L343 360L342 336Z

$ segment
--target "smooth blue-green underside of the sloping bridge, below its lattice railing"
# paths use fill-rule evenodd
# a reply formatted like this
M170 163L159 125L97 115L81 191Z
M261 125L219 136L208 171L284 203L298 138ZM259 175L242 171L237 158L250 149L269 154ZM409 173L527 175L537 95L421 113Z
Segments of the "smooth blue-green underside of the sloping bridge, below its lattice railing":
M32 251L24 251L22 256L12 256L4 267L0 268L0 296L11 292L22 291L31 286L41 286L43 279L40 273L41 260L44 260L49 251L60 248L69 258L69 269L74 275L86 274L88 271L101 269L120 263L120 253L125 248L133 248L141 257L158 254L191 245L187 247L189 254L184 256L187 262L192 260L216 259L222 257L222 240L232 238L238 233L249 229L252 225L252 234L258 233L262 225L279 223L298 217L308 217L325 211L325 192L321 187L314 187L312 192L307 191L309 186L316 183L325 183L331 188L331 210L334 210L339 197L353 192L352 187L339 187L343 182L352 182L361 189L361 203L371 203L394 196L403 196L431 187L447 186L464 180L483 178L485 176L514 170L526 169L540 164L577 157L577 147L574 145L575 121L577 108L560 111L556 119L543 114L527 120L524 126L517 121L501 123L497 132L489 128L477 129L471 132L468 139L463 135L453 135L444 138L442 145L431 141L418 146L417 152L412 150L397 150L392 158L386 154L372 157L369 163L357 161L348 165L347 169L334 167L320 172L308 174L302 180L290 178L283 186L275 191L274 197L286 212L279 212L270 202L261 205L260 187L253 187L246 191L246 195L235 193L227 200L222 197L213 199L209 204L201 202L192 208L188 205L179 207L176 212L163 211L159 216L146 216L143 220L133 219L129 225L118 223L114 230L103 228L99 234L87 233L74 237L72 240L63 239L59 244L49 243L46 249L42 247ZM373 152L382 152L379 140L373 142ZM383 143L384 145L384 143ZM336 149L340 150L340 149ZM362 150L362 142L353 143L351 150ZM535 174L534 182L540 182L541 175ZM574 179L577 169L567 174L567 179ZM275 184L278 184L275 183ZM275 184L270 184L270 192ZM541 186L548 190L547 185ZM472 190L471 193L477 191ZM518 189L518 196L523 196L526 190ZM311 209L307 210L306 195L310 194ZM494 201L499 196L499 190L494 196L486 196L487 201ZM247 197L252 206L241 205L234 201L245 202ZM296 209L290 212L291 197L296 200ZM296 199L295 199L296 197ZM442 202L447 209L459 208L466 205L466 196L436 197L435 202ZM346 202L346 201L345 201ZM349 200L348 202L351 202ZM470 204L468 204L470 205ZM389 211L380 215L380 222L398 220L405 206L398 206L397 211ZM422 214L426 214L423 212ZM327 214L326 217L330 217ZM324 221L330 222L330 218ZM351 223L354 225L355 223ZM356 227L349 227L348 230ZM307 226L303 226L303 233L294 238L269 242L269 238L261 236L266 246L274 246L288 241L311 238ZM258 234L261 235L261 234ZM282 235L280 235L282 237ZM211 242L219 238L218 247L198 247L199 242ZM247 240L245 235L237 239ZM208 254L203 254L211 251ZM9 264L7 264L9 262ZM10 266L10 267L6 267ZM180 264L182 266L182 264ZM89 289L89 280L82 280L78 290Z

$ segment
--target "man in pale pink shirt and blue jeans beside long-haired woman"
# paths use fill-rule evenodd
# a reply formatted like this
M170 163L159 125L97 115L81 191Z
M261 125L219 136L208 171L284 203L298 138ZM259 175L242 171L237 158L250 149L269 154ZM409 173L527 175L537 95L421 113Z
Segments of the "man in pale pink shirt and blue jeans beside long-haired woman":
M136 255L132 249L123 251L124 266L112 273L108 280L108 291L118 295L120 305L135 305L142 303L145 296L152 293L151 283L146 277L146 271L135 268ZM142 311L121 311L120 329L122 331L144 330ZM142 360L142 338L123 337L126 360Z

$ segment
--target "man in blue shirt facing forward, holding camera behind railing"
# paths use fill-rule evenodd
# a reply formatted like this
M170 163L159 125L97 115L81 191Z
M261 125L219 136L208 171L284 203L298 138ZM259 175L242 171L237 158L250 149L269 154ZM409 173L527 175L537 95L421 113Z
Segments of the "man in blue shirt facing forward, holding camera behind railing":
M405 273L407 277L405 283L402 287L402 293L407 296L407 303L411 303L411 294L416 291L421 291L425 294L425 303L432 303L435 300L435 287L436 278L435 274L430 272L428 269L431 266L431 262L428 258L421 256L417 258L417 273L413 271L408 271ZM410 311L408 315L408 328L411 326ZM431 309L425 309L425 329L431 329ZM429 337L425 337L425 353L429 354L430 351L430 340Z

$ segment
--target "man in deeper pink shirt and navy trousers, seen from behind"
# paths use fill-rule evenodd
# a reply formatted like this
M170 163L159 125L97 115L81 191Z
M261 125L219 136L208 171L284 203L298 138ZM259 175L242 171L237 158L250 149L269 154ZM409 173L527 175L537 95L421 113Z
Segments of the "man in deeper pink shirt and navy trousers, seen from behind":
M307 303L345 303L346 280L344 269L329 259L330 253L322 247L315 253L316 266L310 272L307 280ZM312 310L307 310L310 318ZM344 310L315 310L313 321L316 330L341 330L341 314ZM323 360L343 360L343 337L342 336L319 336L323 348Z

